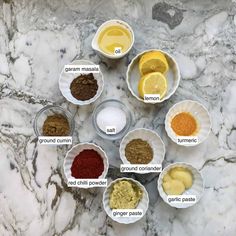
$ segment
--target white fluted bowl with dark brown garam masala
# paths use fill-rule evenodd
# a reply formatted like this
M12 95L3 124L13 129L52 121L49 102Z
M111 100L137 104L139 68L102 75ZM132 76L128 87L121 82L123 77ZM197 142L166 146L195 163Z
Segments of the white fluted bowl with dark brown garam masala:
M104 81L100 69L96 73L90 73L90 70L95 71L95 69L96 65L87 60L75 60L66 65L59 79L62 95L69 102L80 106L97 100L102 94Z

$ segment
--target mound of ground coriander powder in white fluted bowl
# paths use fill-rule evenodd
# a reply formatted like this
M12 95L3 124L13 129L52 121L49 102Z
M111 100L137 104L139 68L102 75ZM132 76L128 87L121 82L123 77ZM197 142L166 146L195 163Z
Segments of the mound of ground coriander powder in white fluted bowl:
M147 141L133 139L125 147L125 156L131 164L148 164L153 159L153 150Z

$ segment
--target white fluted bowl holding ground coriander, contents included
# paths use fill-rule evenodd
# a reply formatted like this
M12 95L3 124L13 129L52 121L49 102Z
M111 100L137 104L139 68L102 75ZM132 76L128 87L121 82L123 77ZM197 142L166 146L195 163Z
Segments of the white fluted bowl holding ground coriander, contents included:
M164 156L165 145L162 139L150 129L132 130L125 135L120 144L120 158L124 164L161 165Z

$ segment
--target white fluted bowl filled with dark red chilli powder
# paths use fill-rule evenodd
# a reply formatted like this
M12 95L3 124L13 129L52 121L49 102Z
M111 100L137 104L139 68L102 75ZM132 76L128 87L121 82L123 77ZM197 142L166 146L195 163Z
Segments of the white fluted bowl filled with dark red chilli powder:
M80 143L67 152L64 173L67 180L104 179L108 166L108 158L102 148L93 143Z

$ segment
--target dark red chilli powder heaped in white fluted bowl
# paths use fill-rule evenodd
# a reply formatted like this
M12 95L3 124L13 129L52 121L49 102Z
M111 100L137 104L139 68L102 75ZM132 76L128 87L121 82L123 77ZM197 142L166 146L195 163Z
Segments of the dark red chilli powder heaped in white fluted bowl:
M75 157L70 169L76 179L97 179L104 171L103 159L95 150L83 150Z

